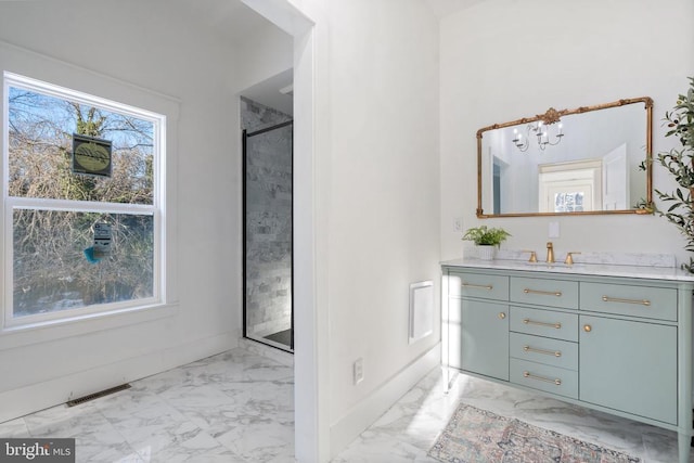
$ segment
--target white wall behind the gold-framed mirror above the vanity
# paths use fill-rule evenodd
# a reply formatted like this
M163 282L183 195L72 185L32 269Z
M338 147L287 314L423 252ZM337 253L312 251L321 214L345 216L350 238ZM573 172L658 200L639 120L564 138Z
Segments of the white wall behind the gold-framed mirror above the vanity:
M558 221L557 249L676 254L684 241L655 216L478 220L475 132L494 123L621 98L654 99L654 153L665 139L661 118L694 74L694 3L588 0L488 0L447 16L441 37L441 256L460 257L463 227L504 227L505 247L543 252L548 223ZM654 185L672 188L664 169Z

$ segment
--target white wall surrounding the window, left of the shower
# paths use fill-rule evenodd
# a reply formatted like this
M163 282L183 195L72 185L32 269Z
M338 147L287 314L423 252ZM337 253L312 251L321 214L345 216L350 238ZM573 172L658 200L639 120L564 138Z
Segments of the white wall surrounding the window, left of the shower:
M164 318L121 320L116 329L107 321L74 324L61 331L69 337L52 330L3 335L0 364L12 374L0 376L0 421L226 350L239 338L240 143L228 90L233 56L164 3L0 2L0 40L110 76L87 80L115 78L180 101L169 140L179 172L177 201L169 204L178 218L171 256L178 305ZM60 66L49 61L41 73ZM102 331L87 333L90 326Z

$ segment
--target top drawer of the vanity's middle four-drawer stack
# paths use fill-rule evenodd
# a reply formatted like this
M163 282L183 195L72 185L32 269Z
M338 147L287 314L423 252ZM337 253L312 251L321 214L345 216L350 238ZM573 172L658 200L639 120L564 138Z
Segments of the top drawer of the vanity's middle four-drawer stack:
M513 276L511 301L578 309L578 282Z

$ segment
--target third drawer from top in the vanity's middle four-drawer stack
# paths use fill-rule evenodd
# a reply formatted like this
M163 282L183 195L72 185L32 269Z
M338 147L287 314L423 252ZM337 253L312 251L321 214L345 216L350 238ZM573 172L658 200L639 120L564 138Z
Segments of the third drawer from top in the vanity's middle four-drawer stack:
M511 333L509 352L515 359L578 370L578 344L568 340Z

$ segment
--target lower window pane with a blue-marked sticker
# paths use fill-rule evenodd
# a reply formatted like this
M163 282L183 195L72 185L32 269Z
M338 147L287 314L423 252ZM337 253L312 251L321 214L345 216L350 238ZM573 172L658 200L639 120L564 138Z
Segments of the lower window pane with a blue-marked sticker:
M85 254L93 226L112 228L112 249ZM13 211L14 317L128 301L154 294L154 217L59 210Z

